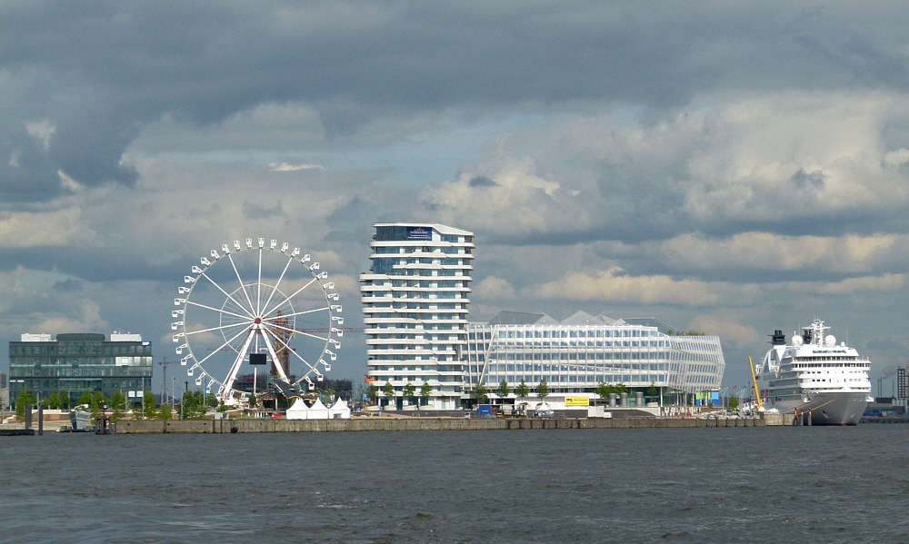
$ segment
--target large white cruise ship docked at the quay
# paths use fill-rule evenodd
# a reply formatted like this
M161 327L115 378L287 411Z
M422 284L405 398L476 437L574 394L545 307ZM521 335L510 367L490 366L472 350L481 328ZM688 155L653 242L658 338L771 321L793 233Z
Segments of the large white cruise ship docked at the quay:
M757 372L764 407L809 414L811 425L855 425L871 401L871 361L837 344L830 327L815 319L786 343L783 331L771 335L770 351ZM807 421L805 421L807 423Z

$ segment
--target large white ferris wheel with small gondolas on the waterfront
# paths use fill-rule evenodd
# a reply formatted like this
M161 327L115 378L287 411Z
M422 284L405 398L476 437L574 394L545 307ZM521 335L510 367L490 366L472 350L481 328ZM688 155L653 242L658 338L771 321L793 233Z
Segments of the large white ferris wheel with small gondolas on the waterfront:
M196 385L207 379L206 389L216 384L227 402L244 364L270 360L274 380L315 389L344 335L340 295L319 269L299 248L265 238L225 243L202 257L184 276L171 312L186 374Z

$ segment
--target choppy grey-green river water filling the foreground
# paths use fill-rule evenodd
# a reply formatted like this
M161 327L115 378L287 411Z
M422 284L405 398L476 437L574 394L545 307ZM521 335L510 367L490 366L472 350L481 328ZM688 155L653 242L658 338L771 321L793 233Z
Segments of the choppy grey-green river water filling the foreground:
M909 425L0 438L0 541L904 541L907 439Z

